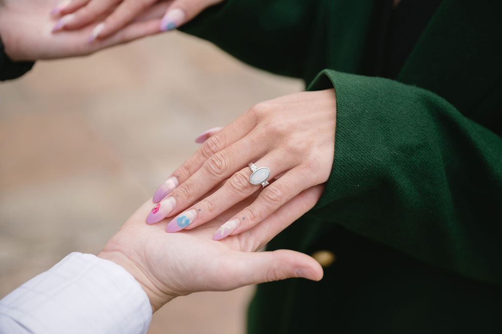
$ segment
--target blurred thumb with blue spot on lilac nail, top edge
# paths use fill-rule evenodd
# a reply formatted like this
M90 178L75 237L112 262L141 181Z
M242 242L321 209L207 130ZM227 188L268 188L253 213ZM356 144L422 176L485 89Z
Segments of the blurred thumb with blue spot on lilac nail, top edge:
M160 24L161 31L173 30L199 15L209 6L216 5L222 0L175 0Z

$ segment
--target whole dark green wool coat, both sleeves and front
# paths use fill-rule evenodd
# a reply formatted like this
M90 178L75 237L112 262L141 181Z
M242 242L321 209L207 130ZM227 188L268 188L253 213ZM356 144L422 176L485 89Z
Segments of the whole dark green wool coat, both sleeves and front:
M396 80L364 76L376 4L227 0L184 28L336 93L326 189L268 249L337 260L260 285L250 333L502 332L502 2L444 0Z

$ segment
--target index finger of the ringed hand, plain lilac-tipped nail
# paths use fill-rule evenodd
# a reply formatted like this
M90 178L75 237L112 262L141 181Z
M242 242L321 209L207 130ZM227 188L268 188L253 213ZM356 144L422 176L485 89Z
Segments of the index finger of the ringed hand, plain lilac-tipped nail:
M190 176L198 171L212 155L227 148L232 143L242 139L255 127L255 125L256 118L253 116L253 114L243 113L235 121L224 127L221 131L219 131L212 137L208 138L204 142L204 144L195 152L195 154L192 155L187 161L185 161L180 167L178 167L170 177L175 177L178 180L179 184L185 182ZM237 169L238 168L235 168L234 170ZM223 179L219 181L222 180ZM157 200L160 201L168 194L169 193L166 193L162 189L161 184L155 191L155 202L157 202Z

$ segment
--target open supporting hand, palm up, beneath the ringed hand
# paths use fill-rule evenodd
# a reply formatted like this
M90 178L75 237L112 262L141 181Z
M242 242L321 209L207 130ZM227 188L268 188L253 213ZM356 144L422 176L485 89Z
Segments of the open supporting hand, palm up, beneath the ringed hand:
M321 192L322 186L310 188L293 199L289 208L269 216L266 225L221 242L211 240L213 230L252 197L198 229L176 234L165 233L165 224L145 224L151 206L148 201L98 256L128 270L147 293L154 312L171 299L196 291L232 290L290 277L318 281L322 268L308 255L290 250L250 252L262 248L312 207Z

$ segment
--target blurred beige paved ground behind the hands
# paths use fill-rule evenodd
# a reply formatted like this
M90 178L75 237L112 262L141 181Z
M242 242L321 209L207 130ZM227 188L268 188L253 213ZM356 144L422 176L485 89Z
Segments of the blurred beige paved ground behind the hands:
M179 32L0 84L0 297L72 251L97 254L200 132L302 88ZM177 298L149 333L243 333L252 293Z

